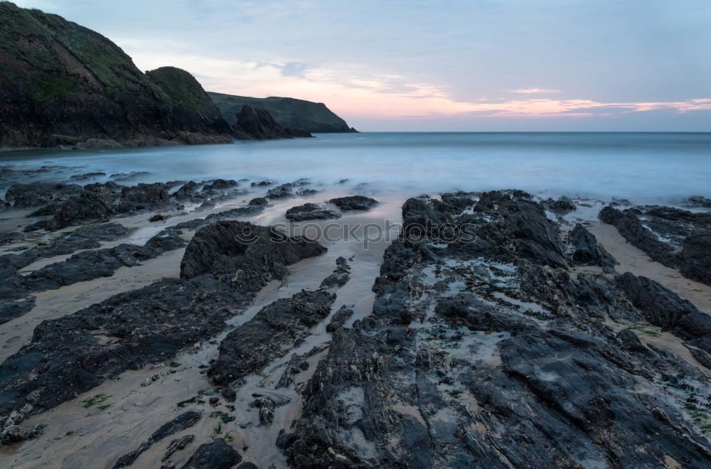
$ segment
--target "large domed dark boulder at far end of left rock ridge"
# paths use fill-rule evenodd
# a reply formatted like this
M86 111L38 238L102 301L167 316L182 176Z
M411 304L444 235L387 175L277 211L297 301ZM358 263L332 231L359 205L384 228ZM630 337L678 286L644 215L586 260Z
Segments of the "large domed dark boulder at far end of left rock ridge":
M196 232L181 261L181 278L191 279L205 272L235 275L237 284L260 287L281 279L286 266L326 252L318 242L287 237L269 227L246 222L220 220ZM264 259L267 259L264 265ZM252 266L264 266L255 271Z

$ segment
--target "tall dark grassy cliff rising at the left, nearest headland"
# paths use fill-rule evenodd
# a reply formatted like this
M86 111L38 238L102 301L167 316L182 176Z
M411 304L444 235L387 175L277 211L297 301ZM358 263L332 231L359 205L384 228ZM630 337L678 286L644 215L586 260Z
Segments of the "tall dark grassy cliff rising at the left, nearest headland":
M229 132L188 72L143 73L90 29L0 3L0 148L220 143Z

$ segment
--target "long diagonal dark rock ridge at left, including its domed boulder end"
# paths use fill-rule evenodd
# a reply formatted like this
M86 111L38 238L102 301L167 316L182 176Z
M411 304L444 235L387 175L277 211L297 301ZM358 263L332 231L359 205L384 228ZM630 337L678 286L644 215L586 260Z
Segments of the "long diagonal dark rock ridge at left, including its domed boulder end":
M264 227L248 245L223 239L244 225L251 226L219 221L198 231L183 256L182 279L162 279L38 325L31 343L0 365L0 420L26 404L32 413L51 409L124 370L169 359L225 328L225 319L264 282L282 278L286 265L325 251L283 234L272 240ZM202 262L205 250L213 252L210 262Z

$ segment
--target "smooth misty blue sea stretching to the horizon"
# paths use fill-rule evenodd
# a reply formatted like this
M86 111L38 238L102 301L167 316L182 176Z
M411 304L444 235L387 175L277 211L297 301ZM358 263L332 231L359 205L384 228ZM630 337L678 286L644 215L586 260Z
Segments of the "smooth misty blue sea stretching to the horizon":
M711 133L316 134L227 145L13 151L0 153L0 165L150 173L132 182L219 177L330 184L348 178L365 184L359 188L366 192L411 195L520 188L635 203L711 198Z

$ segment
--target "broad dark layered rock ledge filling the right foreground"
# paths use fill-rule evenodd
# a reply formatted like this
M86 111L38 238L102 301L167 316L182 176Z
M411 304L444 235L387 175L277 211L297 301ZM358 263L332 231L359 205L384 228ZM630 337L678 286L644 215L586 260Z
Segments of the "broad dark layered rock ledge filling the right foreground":
M420 201L404 212L446 220ZM657 323L707 347L708 316L643 277L574 276L541 212L488 193L451 219L468 224L466 243L405 235L387 248L373 313L335 330L278 440L293 467L711 463L705 404L687 387L709 377L641 340ZM634 328L616 333L608 315Z

